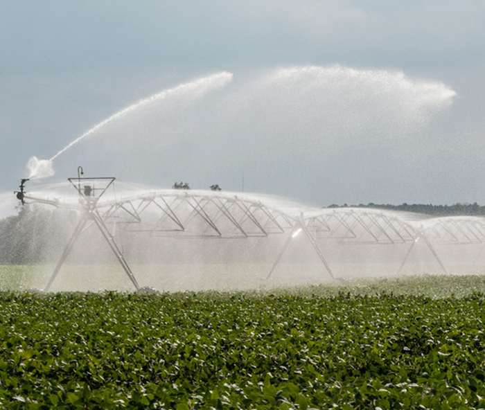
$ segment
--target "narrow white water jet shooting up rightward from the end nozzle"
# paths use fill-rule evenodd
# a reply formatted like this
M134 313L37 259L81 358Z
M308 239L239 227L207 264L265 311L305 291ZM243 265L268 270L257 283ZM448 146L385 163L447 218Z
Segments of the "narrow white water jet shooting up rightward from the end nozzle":
M134 112L137 109L141 109L142 107L155 103L159 100L165 100L167 98L173 98L175 96L190 94L191 98L200 97L208 91L223 87L225 84L227 84L232 80L232 77L233 77L232 73L223 71L221 73L209 75L208 77L200 78L193 82L180 84L177 87L173 87L171 89L166 89L148 98L143 98L137 101L136 103L130 105L129 107L126 107L121 111L117 112L116 114L113 114L112 116L101 121L100 123L92 127L90 130L87 130L87 132L85 132L81 136L78 136L78 138L71 141L71 143L69 143L64 148L62 148L62 150L60 150L57 154L55 154L51 159L38 159L37 157L31 157L27 164L27 168L29 170L29 178L39 179L39 178L51 177L52 175L54 175L52 163L62 153L69 150L69 148L71 148L73 145L76 145L79 141L82 141L87 136L94 134L101 128L105 127L105 125L112 123L113 121L117 121L121 118L124 118L125 116L127 116L127 114L130 114L131 112Z

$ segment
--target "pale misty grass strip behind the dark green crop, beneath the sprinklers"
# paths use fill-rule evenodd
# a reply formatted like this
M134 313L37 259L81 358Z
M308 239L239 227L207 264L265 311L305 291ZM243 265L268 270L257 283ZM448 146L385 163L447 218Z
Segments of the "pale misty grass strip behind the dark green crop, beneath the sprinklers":
M44 289L54 265L0 265L0 292ZM332 280L321 263L283 264L272 276L270 263L196 264L174 263L164 265L133 265L132 270L141 286L150 286L159 292L182 291L276 291L276 289L303 289L332 296L338 292L373 294L426 294L427 296L464 296L470 292L484 292L485 276L477 270L469 275L412 273L396 274L392 264L335 265L340 280ZM351 272L355 272L351 274ZM427 270L425 270L427 271ZM459 270L457 270L459 271ZM341 274L345 272L345 274ZM390 272L390 273L389 273ZM418 278L418 280L416 280ZM119 264L88 265L66 264L51 287L53 292L132 292L134 285Z

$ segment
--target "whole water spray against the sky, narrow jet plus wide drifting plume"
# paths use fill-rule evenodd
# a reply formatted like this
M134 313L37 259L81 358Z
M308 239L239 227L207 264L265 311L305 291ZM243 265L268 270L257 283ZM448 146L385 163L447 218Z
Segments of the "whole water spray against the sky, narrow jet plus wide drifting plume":
M456 95L442 82L416 80L402 71L335 65L290 66L255 74L241 75L215 98L208 98L206 91L227 84L230 73L140 100L92 127L50 160L33 157L30 177L52 175L53 160L112 123L103 130L103 138L116 134L119 143L98 140L96 150L85 148L92 161L96 157L109 161L118 177L124 177L120 172L130 172L132 180L165 185L182 176L190 178L193 187L211 179L237 190L234 181L245 169L251 190L276 193L272 187L286 179L288 188L278 193L301 198L308 188L299 181L306 180L310 170L315 186L321 175L335 168L349 183L356 178L352 169L369 170L374 164L378 166L369 181L382 175L382 170L399 166L404 171L399 175L405 175L410 161L423 161L418 157L425 151L418 141L420 132ZM204 97L192 100L195 96ZM148 106L157 100L165 100L164 109ZM191 103L185 104L188 100ZM123 127L116 128L121 123ZM150 149L134 156L140 145ZM369 187L364 184L360 189L355 196L362 197Z

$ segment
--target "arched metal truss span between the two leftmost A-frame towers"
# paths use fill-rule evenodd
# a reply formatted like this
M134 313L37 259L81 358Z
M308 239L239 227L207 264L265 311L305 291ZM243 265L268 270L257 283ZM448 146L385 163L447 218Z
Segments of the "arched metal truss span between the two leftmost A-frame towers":
M127 231L191 238L258 238L285 233L294 217L225 193L166 190L103 204L103 219Z

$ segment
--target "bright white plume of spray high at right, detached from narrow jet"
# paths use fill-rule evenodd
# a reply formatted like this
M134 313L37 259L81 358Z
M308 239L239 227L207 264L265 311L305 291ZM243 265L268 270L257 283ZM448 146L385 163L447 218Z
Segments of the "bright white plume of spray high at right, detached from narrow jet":
M402 71L339 65L277 69L259 78L255 86L261 105L271 100L274 112L296 113L310 132L324 123L334 135L344 134L342 130L362 136L384 130L392 136L399 125L422 127L456 96L442 82L414 80ZM281 115L283 123L285 117L288 115ZM294 118L286 121L294 122ZM373 132L362 132L364 129Z

